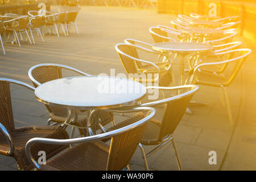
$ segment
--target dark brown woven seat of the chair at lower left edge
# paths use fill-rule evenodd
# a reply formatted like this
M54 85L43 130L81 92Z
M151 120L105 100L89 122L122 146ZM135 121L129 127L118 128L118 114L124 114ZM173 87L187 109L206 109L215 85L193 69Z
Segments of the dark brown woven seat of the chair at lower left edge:
M20 127L10 132L14 142L14 152L11 156L16 159L19 169L29 170L32 169L32 165L28 162L25 146L28 140L35 137L42 138L55 138L55 139L68 139L68 133L61 127L56 126L30 126ZM56 155L60 151L64 150L68 146L56 146L35 143L31 146L31 152L35 159L38 159L38 152L45 151L46 158L49 159L53 155ZM5 137L0 137L0 154L7 155L10 150L9 144Z

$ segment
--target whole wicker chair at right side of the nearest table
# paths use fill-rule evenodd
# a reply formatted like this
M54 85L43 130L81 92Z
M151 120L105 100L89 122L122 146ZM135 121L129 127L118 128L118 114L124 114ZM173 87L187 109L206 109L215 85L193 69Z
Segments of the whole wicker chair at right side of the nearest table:
M174 147L176 160L178 164L179 170L183 170L181 165L181 160L179 156L179 152L177 150L176 142L174 139L174 131L179 125L185 110L187 109L193 95L199 89L197 85L183 85L183 86L174 86L174 87L158 87L158 86L149 86L149 89L158 89L165 91L180 91L179 95L171 96L168 98L164 98L163 100L156 100L148 103L143 103L138 106L165 106L162 121L158 121L157 119L150 119L150 123L148 124L146 131L141 139L141 143L139 147L141 148L142 158L144 159L144 167L146 170L149 169L147 158L166 145L168 142L172 141L172 146ZM106 131L117 130L121 126L131 125L131 123L137 121L138 117L143 118L143 115L134 115L130 119L119 123L116 126L110 127L106 129ZM153 150L146 154L144 147L145 146L156 146Z

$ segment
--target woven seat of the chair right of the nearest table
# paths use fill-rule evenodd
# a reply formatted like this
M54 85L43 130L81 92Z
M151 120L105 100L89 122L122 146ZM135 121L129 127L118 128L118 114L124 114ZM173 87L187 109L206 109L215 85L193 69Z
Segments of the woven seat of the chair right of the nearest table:
M117 130L121 127L125 127L128 125L131 125L145 117L144 114L138 113L135 114L133 117L126 119L125 121L118 123L115 126L110 127L107 131ZM141 144L144 145L155 145L159 144L159 132L160 132L160 126L161 122L157 119L150 119L150 122L148 123L146 127L146 131L143 134L143 137L141 139ZM106 140L104 140L106 142Z

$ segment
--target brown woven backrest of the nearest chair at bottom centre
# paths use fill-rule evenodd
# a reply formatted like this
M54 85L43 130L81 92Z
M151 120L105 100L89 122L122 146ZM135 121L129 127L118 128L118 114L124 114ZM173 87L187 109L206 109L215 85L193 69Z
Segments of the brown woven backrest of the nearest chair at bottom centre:
M112 137L109 149L108 166L106 169L107 171L120 170L129 164L139 142L142 139L146 126L147 124Z

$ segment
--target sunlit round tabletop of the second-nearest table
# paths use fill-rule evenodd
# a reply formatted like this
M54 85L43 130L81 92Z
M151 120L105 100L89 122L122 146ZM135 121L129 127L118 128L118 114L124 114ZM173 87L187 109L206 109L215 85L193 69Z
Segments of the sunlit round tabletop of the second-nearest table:
M211 50L213 46L193 42L161 42L153 44L152 48L158 51L170 52L204 52Z

